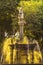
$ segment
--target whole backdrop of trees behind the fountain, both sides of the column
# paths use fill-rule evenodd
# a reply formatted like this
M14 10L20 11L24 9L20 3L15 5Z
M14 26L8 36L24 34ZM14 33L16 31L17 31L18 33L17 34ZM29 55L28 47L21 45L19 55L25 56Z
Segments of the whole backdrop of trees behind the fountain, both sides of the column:
M22 6L26 25L24 34L43 41L43 1L42 0L0 0L0 42L5 31L15 34L18 29L18 9Z

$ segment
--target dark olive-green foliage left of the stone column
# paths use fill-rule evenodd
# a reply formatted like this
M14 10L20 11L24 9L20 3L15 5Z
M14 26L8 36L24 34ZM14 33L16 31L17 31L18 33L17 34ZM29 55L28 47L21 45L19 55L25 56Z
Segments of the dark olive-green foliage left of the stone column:
M13 29L14 32L17 30L18 3L18 0L0 0L0 36L2 38L5 31L12 34Z

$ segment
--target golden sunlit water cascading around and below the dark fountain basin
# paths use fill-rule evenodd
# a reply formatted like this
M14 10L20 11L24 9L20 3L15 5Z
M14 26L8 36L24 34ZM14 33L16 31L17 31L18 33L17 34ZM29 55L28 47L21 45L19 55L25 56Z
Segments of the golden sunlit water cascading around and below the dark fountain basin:
M11 64L11 49L9 47L9 44L11 43L11 39L12 38L5 38L4 42L3 42L3 50L2 50L2 56L1 56L1 62L2 64ZM21 44L21 42L18 42L19 44ZM24 37L22 44L29 44L29 40L27 39L27 37ZM15 38L13 39L13 44L16 44L16 40ZM38 44L37 44L38 46ZM23 49L14 49L13 50L13 64L26 64L26 63L30 63L32 62L32 51L29 51L29 45L27 45L28 50L23 50ZM38 46L39 48L39 46ZM17 55L17 51L18 51L18 55ZM17 59L18 56L18 59ZM40 52L34 51L34 63L39 63L40 60L42 60L42 56Z

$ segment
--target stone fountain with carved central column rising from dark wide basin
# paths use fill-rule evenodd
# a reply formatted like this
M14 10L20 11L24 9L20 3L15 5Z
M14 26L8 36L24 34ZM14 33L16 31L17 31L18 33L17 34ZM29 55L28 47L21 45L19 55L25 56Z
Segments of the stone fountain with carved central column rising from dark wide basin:
M19 25L19 35L20 35L20 39L16 40L16 44L14 44L13 42L13 38L14 36L11 36L11 44L9 45L10 47L10 64L29 64L29 60L28 60L28 55L29 55L29 50L31 50L32 52L32 63L34 63L34 48L37 45L35 42L31 43L31 44L23 44L22 40L24 37L24 25L26 24L26 22L24 21L24 13L22 10L22 7L20 7L19 9L19 14L18 14L18 25ZM39 48L39 46L38 46ZM15 61L13 61L13 52L14 49L16 49L16 59Z

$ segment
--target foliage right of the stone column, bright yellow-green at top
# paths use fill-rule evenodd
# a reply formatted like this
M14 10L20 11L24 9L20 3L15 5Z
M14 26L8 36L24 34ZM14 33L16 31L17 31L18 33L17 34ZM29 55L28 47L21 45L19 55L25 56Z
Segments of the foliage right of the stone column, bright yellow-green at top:
M32 37L40 36L43 26L43 2L39 1L21 1L26 20L25 34ZM29 32L29 30L31 30ZM31 35L30 35L31 33Z

